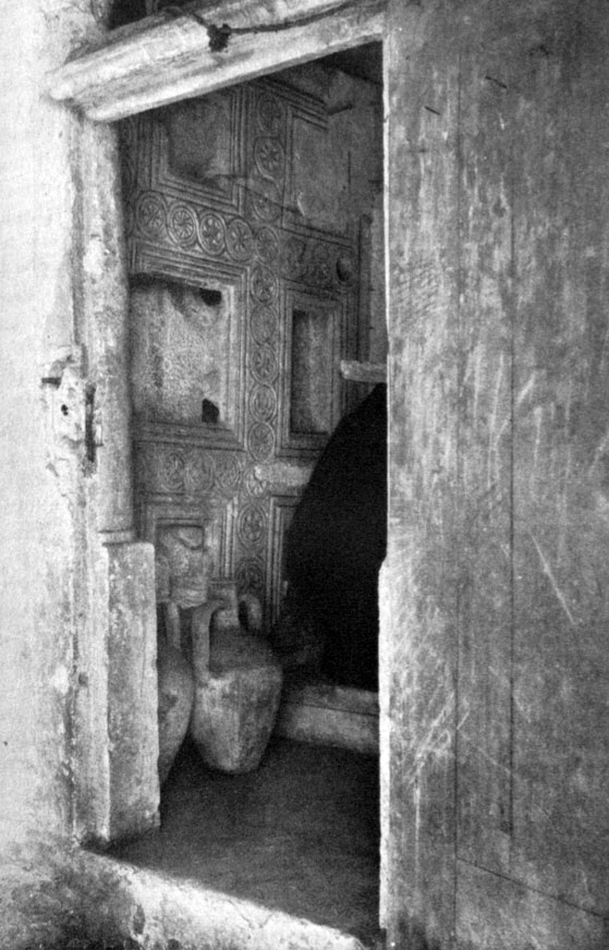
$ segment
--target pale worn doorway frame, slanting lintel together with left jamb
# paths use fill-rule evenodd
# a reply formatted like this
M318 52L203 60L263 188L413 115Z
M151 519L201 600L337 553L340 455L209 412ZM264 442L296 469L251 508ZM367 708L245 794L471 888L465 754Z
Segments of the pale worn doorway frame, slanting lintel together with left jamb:
M296 8L297 12L290 12ZM127 358L127 273L120 240L111 258L100 234L122 235L122 202L117 130L113 123L127 115L181 99L203 96L261 75L320 59L332 52L372 41L383 41L386 0L218 0L200 11L191 4L187 14L168 20L162 15L113 31L99 47L68 62L49 76L49 94L84 117L74 176L82 183L84 223L80 254L83 270L86 333L97 362L108 367L103 391L98 392L103 438L99 448L98 537L107 557L108 614L97 624L90 644L94 663L106 671L106 717L95 709L76 708L77 743L75 829L82 841L105 842L139 833L158 820L159 788L156 774L156 625L154 558L150 545L136 543L133 532L131 472L131 418ZM230 27L226 24L230 23ZM385 83L387 102L387 77ZM387 155L385 158L387 171ZM389 186L386 179L385 196ZM95 235L95 236L93 236ZM105 255L106 259L100 259ZM78 266L78 265L76 265ZM137 637L126 643L120 635L125 617ZM387 617L381 613L381 657L389 644ZM95 634L94 634L95 636ZM105 644L105 646L100 646ZM147 682L142 678L139 653L148 658ZM112 678L112 670L118 677ZM383 678L380 678L381 683ZM99 684L98 684L99 685ZM101 695L98 689L98 698ZM134 711L134 696L138 708ZM380 697L381 710L388 697ZM130 708L131 707L131 708ZM381 715L381 802L388 801L389 730ZM142 736L145 736L143 741ZM134 755L133 750L139 748ZM105 790L94 764L103 762ZM382 811L382 864L390 850L389 821ZM381 921L385 873L381 866Z

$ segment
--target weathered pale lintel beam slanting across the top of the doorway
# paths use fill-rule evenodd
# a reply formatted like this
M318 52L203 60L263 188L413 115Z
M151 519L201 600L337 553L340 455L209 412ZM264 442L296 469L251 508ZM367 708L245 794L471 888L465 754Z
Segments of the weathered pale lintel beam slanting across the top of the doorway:
M218 0L147 17L49 75L51 98L92 120L202 96L382 37L385 0Z

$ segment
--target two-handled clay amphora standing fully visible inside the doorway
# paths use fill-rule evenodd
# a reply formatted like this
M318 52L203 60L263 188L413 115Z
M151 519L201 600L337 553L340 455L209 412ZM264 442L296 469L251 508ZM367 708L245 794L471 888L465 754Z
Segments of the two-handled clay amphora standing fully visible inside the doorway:
M211 599L193 614L191 735L211 768L247 772L258 767L275 726L282 673L270 647L240 626L230 606L226 597ZM217 611L224 621L214 625Z

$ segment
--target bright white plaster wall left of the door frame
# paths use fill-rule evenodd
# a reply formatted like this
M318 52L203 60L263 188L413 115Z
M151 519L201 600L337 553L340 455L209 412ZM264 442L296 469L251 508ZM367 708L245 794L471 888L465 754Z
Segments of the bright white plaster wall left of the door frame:
M60 4L3 7L0 180L2 215L2 630L0 852L24 902L40 841L70 829L73 549L78 529L74 430L61 405L77 385L70 151L77 120L40 102L45 69L84 21L74 11L48 42ZM53 48L54 47L54 48ZM61 392L40 385L71 357ZM2 887L7 901L11 888ZM2 914L12 918L10 908Z

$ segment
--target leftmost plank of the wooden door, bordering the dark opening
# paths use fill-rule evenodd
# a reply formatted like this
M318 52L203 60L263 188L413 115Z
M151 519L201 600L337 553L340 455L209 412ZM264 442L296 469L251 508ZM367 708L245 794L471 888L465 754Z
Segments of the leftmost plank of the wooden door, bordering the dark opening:
M452 16L388 9L389 546L381 586L382 922L448 946L454 898L459 58ZM425 942L427 941L427 942Z

